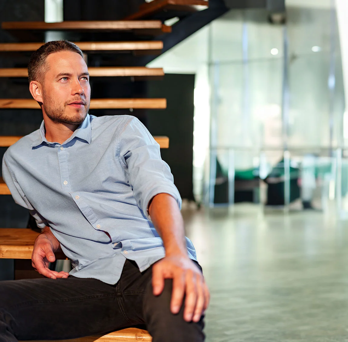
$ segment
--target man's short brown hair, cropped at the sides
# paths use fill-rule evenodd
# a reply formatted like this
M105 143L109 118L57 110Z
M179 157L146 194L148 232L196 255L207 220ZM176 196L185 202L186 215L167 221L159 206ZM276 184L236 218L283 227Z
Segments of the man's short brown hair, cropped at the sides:
M28 78L29 82L39 81L43 82L45 73L48 70L46 58L55 52L72 51L78 53L82 58L84 57L81 49L74 43L68 40L53 40L40 46L30 57L28 64Z

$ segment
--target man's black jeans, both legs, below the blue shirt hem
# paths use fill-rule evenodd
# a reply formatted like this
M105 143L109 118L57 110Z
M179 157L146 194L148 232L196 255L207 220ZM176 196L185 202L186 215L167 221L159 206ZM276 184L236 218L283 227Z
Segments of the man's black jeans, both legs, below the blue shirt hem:
M76 278L0 281L0 341L60 340L145 325L153 342L204 341L198 323L169 309L172 280L158 297L152 294L152 267L140 272L126 260L120 280Z

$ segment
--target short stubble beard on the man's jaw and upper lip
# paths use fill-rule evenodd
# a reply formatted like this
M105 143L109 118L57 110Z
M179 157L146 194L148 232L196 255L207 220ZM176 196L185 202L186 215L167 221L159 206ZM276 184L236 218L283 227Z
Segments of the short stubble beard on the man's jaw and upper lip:
M74 101L81 101L81 98L73 99L68 102L65 102L63 106L57 104L53 101L52 97L44 94L45 104L42 105L45 109L46 115L54 122L60 124L69 124L69 125L80 125L84 122L88 110L89 110L89 102L83 108L74 108L75 115L68 116L65 114L65 109L69 105L69 103Z

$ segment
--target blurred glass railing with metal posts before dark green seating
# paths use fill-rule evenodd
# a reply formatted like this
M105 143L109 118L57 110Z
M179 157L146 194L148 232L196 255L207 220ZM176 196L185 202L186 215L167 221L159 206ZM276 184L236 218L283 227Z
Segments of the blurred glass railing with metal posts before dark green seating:
M207 163L203 199L210 207L251 202L348 217L348 150L213 148Z

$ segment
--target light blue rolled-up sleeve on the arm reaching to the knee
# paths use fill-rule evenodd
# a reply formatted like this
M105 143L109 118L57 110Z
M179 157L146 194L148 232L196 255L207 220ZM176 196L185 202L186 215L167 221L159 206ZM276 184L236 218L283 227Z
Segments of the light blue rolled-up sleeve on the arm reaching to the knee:
M138 206L147 218L153 196L168 193L181 208L180 193L168 164L161 159L159 144L136 118L128 117L118 134L119 159Z

